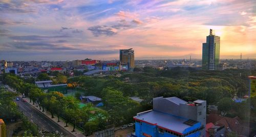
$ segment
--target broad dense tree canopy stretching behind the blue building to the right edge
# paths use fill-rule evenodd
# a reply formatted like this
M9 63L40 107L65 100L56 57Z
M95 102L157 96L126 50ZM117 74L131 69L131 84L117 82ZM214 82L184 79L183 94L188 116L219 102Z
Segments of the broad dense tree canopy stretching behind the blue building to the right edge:
M152 98L159 96L176 96L186 101L203 99L209 105L217 105L222 98L247 95L247 77L255 75L256 72L248 70L202 71L183 67L166 70L144 67L135 70L135 73L123 74L120 78L80 76L70 78L68 83L71 88L84 90L84 94L88 96L94 95L103 99L109 94L104 88L110 87L119 91L123 97L138 96L144 99L143 103L147 106L151 106Z

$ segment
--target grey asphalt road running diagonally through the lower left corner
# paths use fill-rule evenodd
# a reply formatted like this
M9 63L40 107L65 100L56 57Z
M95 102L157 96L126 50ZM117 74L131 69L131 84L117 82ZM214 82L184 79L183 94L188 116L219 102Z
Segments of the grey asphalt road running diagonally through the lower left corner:
M47 116L45 116L39 110L35 109L28 102L23 102L20 97L18 98L19 98L19 101L16 101L16 102L19 106L20 111L22 111L30 121L33 120L33 123L35 123L39 129L48 130L48 131L58 130L59 132L62 132L64 136L74 136L73 134L68 132L66 129L62 128L61 126L56 124L54 121L50 120Z

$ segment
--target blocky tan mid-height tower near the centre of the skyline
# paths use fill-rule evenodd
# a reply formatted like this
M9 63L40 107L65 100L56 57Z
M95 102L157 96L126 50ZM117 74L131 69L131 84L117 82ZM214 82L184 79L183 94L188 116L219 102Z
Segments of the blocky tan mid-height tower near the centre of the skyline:
M128 63L129 68L133 69L135 66L134 50L133 49L120 50L120 61L121 63Z

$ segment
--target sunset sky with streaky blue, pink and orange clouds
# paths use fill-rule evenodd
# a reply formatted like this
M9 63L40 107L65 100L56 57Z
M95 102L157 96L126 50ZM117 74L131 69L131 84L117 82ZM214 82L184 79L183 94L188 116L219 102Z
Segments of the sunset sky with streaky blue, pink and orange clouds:
M221 59L256 58L254 0L0 0L0 60L201 58L209 29Z

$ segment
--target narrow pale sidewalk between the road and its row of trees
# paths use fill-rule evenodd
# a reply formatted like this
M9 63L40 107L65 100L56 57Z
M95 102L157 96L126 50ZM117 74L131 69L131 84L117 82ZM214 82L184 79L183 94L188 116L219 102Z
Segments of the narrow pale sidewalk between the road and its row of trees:
M15 92L13 91L13 89L10 89L8 88L11 92ZM22 95L19 95L20 98L22 98ZM27 100L27 103L29 103L31 106L33 106L34 108L36 108L37 110L39 110L41 113L44 113L45 116L47 116L49 119L51 119L52 121L54 121L55 123L57 123L58 125L60 125L61 127L65 128L67 131L69 131L70 133L72 133L73 135L75 136L79 136L79 137L83 137L85 135L82 134L82 131L80 131L79 129L75 128L75 132L71 132L73 130L73 125L71 125L70 123L68 123L68 127L65 127L66 126L66 123L65 121L63 121L61 118L59 119L60 122L57 122L58 121L58 118L57 116L54 115L54 118L52 119L52 115L49 111L47 111L45 109L45 112L42 112L42 109L40 110L39 109L39 106L36 105L36 102L35 104L33 105L33 101L31 101L31 103L29 102L30 101L30 98L26 97L24 98ZM36 107L37 106L37 107Z

